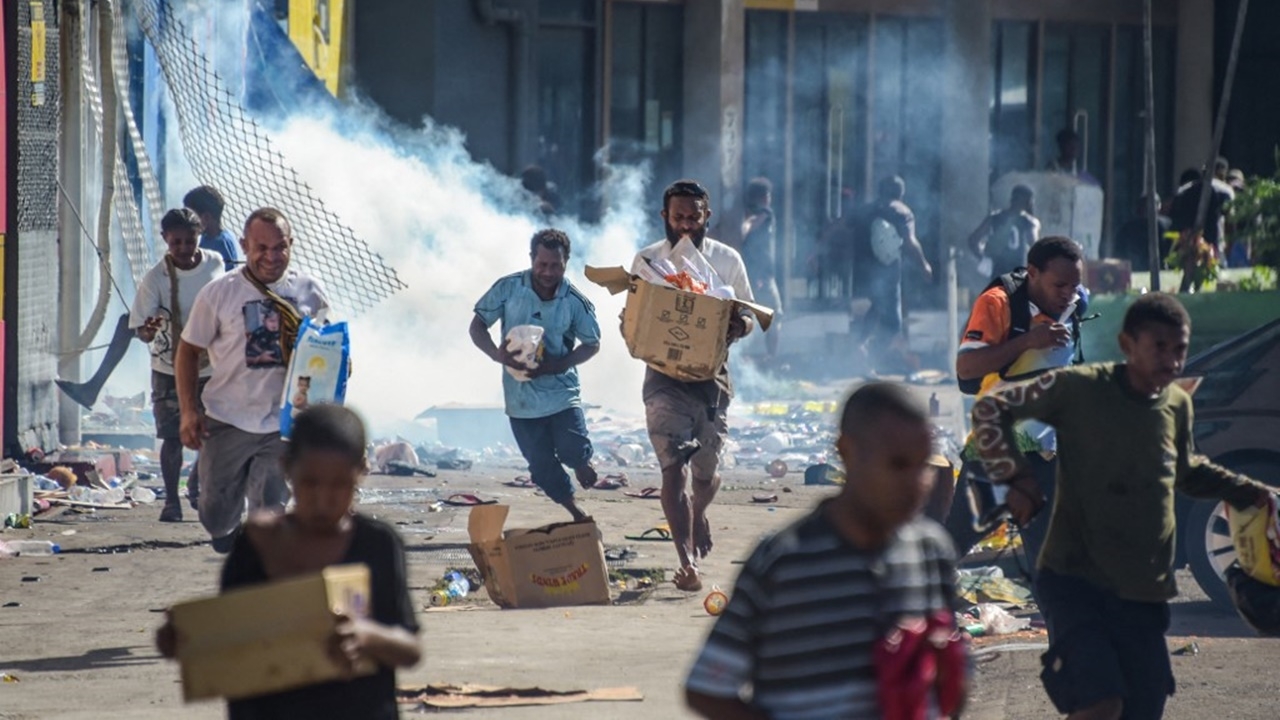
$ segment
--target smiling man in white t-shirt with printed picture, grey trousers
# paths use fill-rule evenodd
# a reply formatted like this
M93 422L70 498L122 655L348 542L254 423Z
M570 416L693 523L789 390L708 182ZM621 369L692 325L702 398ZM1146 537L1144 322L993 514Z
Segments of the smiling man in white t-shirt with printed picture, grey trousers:
M182 442L201 450L200 521L214 538L214 550L224 553L232 547L246 500L250 510L283 510L289 500L280 466L287 370L280 331L282 315L291 309L278 306L257 284L300 316L319 318L329 309L320 283L289 269L293 232L283 213L255 210L244 223L241 249L244 265L196 296L177 363ZM204 351L212 375L197 393Z

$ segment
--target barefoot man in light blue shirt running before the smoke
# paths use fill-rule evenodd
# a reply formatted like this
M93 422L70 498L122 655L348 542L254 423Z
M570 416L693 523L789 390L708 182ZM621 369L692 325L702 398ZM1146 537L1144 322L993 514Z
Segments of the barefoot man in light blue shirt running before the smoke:
M573 501L573 484L564 466L573 469L584 488L595 484L577 365L600 351L600 325L591 302L564 279L570 258L567 234L557 229L536 232L529 256L532 260L529 270L493 283L476 302L471 342L495 363L529 377L520 380L511 373L502 374L511 432L529 461L534 484L575 520L584 520L586 512ZM543 352L536 366L521 363L506 340L500 347L494 345L489 328L499 320L503 338L517 325L543 328Z

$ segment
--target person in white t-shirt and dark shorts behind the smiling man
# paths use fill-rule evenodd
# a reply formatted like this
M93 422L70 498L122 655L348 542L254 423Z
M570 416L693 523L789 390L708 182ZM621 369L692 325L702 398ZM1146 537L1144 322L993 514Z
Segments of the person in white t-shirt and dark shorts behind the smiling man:
M168 254L142 275L138 295L129 309L129 327L138 340L151 346L151 413L160 438L160 475L164 478L164 510L161 523L182 521L182 498L178 480L182 474L182 438L178 386L174 380L174 348L182 328L191 315L191 305L202 287L223 277L223 259L216 252L201 250L200 217L186 208L165 213L160 236L169 246ZM207 357L201 357L198 384L209 380ZM191 471L188 491L192 507L200 496L198 473Z

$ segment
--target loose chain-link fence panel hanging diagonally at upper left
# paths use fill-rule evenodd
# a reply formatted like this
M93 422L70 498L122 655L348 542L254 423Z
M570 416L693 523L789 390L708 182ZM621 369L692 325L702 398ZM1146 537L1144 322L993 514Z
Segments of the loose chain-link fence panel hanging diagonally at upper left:
M320 278L344 314L357 315L404 287L396 270L285 164L168 0L128 0L125 12L134 14L155 49L192 172L221 191L229 218L246 218L264 205L284 210L296 237L293 263Z

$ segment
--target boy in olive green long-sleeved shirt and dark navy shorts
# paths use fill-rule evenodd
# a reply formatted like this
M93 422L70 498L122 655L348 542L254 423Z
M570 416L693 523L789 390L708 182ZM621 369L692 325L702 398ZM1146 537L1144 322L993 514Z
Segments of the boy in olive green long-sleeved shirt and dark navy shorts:
M1020 524L1044 497L1014 423L1057 430L1059 477L1037 598L1050 633L1041 679L1071 719L1157 720L1174 692L1165 646L1174 583L1174 491L1245 509L1268 488L1196 455L1192 398L1174 384L1190 319L1174 296L1130 305L1125 363L1055 370L979 400L974 434L987 473L1007 483Z

